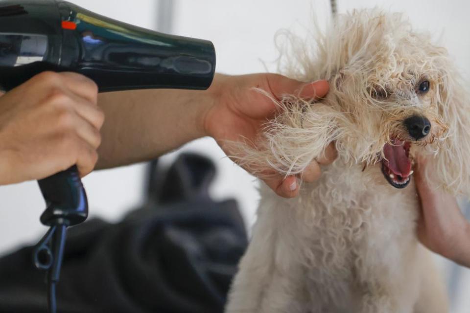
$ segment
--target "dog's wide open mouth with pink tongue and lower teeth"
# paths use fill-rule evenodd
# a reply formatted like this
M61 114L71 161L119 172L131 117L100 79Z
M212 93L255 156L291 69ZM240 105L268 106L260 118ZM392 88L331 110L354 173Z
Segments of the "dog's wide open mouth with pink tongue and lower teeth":
M408 185L413 171L409 157L411 144L398 139L392 144L383 147L382 173L385 179L395 188L404 188Z

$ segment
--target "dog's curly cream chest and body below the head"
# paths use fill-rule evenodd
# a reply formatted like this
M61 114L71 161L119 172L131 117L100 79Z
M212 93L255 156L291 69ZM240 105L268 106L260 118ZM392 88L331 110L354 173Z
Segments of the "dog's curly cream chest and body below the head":
M416 240L414 187L390 192L378 179L372 168L336 161L296 199L263 188L227 312L447 312L430 253Z

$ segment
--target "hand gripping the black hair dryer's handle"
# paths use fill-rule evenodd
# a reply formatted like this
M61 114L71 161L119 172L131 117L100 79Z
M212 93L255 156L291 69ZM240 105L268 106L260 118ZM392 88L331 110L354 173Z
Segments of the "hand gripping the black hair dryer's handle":
M43 72L0 97L0 184L43 179L98 159L104 114L85 76Z

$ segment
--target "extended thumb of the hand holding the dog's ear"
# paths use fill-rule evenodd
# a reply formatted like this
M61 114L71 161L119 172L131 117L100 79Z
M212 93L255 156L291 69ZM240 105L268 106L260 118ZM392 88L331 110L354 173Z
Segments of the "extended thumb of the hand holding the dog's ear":
M329 84L326 80L305 83L276 74L268 75L267 78L269 87L276 97L280 97L284 94L294 94L308 99L321 98L325 96L329 90Z

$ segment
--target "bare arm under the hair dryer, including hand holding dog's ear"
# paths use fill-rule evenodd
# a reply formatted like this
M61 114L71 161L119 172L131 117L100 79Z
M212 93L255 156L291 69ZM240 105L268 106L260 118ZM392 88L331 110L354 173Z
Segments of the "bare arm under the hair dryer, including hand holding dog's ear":
M275 97L300 92L305 98L315 98L328 92L328 83L307 84L277 74L216 74L206 91L157 89L100 94L98 104L106 113L106 122L98 168L148 160L208 135L230 156L224 141L254 140L277 112L275 103L254 88ZM303 178L317 179L319 164L329 164L335 157L329 146L326 157L312 162ZM278 175L265 182L283 197L294 197L299 191L294 176Z

